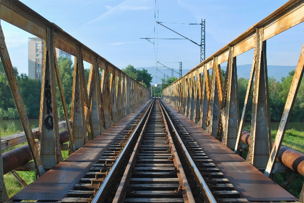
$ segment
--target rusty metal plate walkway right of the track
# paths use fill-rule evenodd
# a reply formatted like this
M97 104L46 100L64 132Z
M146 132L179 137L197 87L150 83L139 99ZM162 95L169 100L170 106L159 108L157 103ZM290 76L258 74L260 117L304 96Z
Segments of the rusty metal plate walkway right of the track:
M255 168L250 163L245 162L243 158L235 154L232 150L227 148L223 143L210 143L210 140L214 140L213 136L209 133L190 133L195 130L189 124L193 126L196 124L190 121L182 114L178 114L177 110L167 104L168 108L177 117L180 123L184 125L185 129L189 132L192 138L197 141L199 146L203 149L206 156L214 161L214 164L220 172L223 172L225 178L234 186L242 198L246 198L248 201L294 201L297 200L292 194L287 192L280 185L267 178L262 172Z

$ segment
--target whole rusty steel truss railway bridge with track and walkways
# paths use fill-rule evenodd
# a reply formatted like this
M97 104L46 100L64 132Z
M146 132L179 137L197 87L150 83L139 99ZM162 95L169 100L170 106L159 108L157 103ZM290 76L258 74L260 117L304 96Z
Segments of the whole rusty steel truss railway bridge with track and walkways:
M299 198L285 188L304 175L304 154L282 140L304 71L304 46L272 142L266 41L304 21L304 1L290 0L248 28L164 89L162 98L18 0L2 0L0 18L45 44L40 123L32 129L0 26L0 56L24 129L2 137L1 148L28 143L0 153L1 202L303 202L304 187ZM75 56L70 117L55 48ZM240 118L236 59L250 49ZM91 64L88 82L84 61ZM57 89L65 121L58 118ZM69 152L65 160L62 151ZM16 171L36 171L37 179L27 186ZM10 198L8 172L24 185ZM280 186L272 180L275 172L293 175Z

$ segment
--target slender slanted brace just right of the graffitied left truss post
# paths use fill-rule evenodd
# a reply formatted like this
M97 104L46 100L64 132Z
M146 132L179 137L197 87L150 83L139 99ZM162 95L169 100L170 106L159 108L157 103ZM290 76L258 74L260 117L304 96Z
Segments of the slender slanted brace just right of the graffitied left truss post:
M56 36L54 36L54 37L56 37ZM56 38L54 38L54 41L56 41ZM55 45L56 45L56 43L54 43L54 47L56 47ZM56 56L56 49L53 48L53 51L54 51L53 56L54 56L54 62L55 62L55 73L56 73L56 77L57 77L57 84L58 84L58 89L59 89L59 92L60 92L60 98L61 98L61 102L62 102L62 106L63 106L64 116L65 116L65 120L66 120L66 124L67 124L67 130L68 130L68 133L69 133L70 154L72 154L72 153L75 152L75 144L74 144L72 128L71 128L71 124L70 124L67 104L66 104L66 100L65 100L65 97L64 97L63 86L62 86L62 82L61 82L61 76L60 76L59 66L58 66L57 56Z

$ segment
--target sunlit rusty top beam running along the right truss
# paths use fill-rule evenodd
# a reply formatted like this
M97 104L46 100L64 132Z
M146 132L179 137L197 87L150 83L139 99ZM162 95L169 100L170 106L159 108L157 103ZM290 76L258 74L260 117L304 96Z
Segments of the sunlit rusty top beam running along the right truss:
M200 70L200 73L203 73L204 64L208 64L213 61L213 57L217 57L217 64L226 62L228 60L229 47L233 47L233 56L237 56L254 48L256 46L254 38L256 36L257 28L264 29L263 40L265 41L303 21L304 2L301 0L290 0L260 22L249 27L244 33L229 42L227 45L210 55L205 61L186 73L185 76L197 69ZM211 68L212 66L207 66L207 70ZM181 78L177 81L179 80L181 80Z

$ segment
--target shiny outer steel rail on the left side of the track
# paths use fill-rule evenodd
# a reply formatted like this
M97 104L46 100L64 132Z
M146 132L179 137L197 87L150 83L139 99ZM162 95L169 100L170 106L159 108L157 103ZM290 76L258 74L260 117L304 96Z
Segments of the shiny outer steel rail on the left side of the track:
M122 162L126 152L128 151L128 149L131 145L131 142L133 141L135 133L140 128L142 122L145 120L145 117L146 117L147 113L151 111L154 101L155 100L152 100L150 105L147 107L147 110L146 110L145 114L143 115L141 121L137 124L136 128L132 132L132 134L131 134L128 142L126 143L125 147L123 148L120 156L118 157L118 159L116 160L116 162L114 163L112 168L109 170L108 175L105 177L103 183L101 184L99 190L97 191L97 193L96 193L96 195L93 198L91 203L99 203L100 202L100 197L104 196L105 193L107 192L107 188L109 187L109 184L111 183L113 177L116 175L116 171L118 170L118 168L120 166L120 163Z

